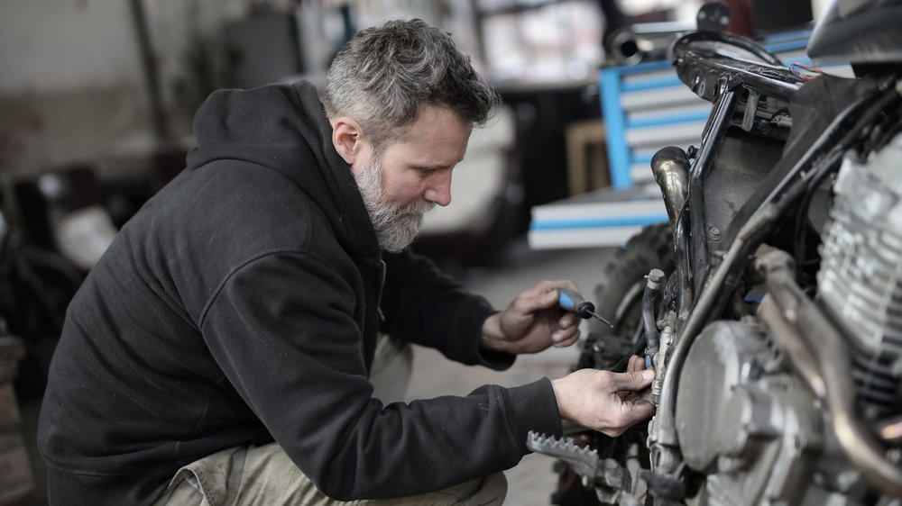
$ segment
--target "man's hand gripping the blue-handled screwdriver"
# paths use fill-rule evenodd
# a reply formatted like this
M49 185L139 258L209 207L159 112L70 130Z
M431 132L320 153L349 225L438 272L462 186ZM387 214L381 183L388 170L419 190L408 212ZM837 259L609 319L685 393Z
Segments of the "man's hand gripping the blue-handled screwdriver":
M571 281L543 281L517 295L506 310L483 323L480 344L506 353L536 353L563 348L579 339L579 317L557 306L557 287L576 289Z

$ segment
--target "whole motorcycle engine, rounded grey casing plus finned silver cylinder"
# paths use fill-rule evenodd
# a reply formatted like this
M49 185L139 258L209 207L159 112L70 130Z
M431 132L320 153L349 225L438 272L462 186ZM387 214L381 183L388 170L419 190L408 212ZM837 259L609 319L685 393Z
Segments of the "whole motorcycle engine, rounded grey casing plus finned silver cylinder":
M852 349L866 420L902 412L902 135L844 159L823 233L815 299ZM676 398L690 503L860 504L860 474L824 406L758 317L715 321L686 357Z

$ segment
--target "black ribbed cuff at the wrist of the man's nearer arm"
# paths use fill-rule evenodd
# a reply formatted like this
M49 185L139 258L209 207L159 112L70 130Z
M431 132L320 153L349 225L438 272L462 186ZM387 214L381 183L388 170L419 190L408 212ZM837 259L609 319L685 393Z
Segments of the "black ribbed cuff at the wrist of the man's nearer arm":
M526 447L530 430L557 438L563 435L557 397L551 387L551 380L542 378L530 384L502 390L511 435L520 444L524 454L531 453Z

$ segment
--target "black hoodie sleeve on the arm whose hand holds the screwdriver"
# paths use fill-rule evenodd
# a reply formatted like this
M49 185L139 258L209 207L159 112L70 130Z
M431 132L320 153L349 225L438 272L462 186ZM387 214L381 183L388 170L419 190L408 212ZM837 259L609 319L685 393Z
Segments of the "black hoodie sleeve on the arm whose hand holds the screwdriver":
M513 364L515 356L479 346L483 322L495 312L488 301L410 250L383 259L382 312L392 336L436 348L470 366L503 370Z

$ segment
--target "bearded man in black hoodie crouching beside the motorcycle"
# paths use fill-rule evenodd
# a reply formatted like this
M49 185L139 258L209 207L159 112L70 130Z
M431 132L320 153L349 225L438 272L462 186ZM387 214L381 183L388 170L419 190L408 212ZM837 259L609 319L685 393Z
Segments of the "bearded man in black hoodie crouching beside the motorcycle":
M420 21L356 35L325 111L306 83L211 95L187 169L69 308L39 428L51 503L497 503L530 429L616 435L648 418L618 394L648 387L638 371L373 398L377 330L496 369L579 336L556 307L571 283L494 312L406 249L450 203L495 96Z

